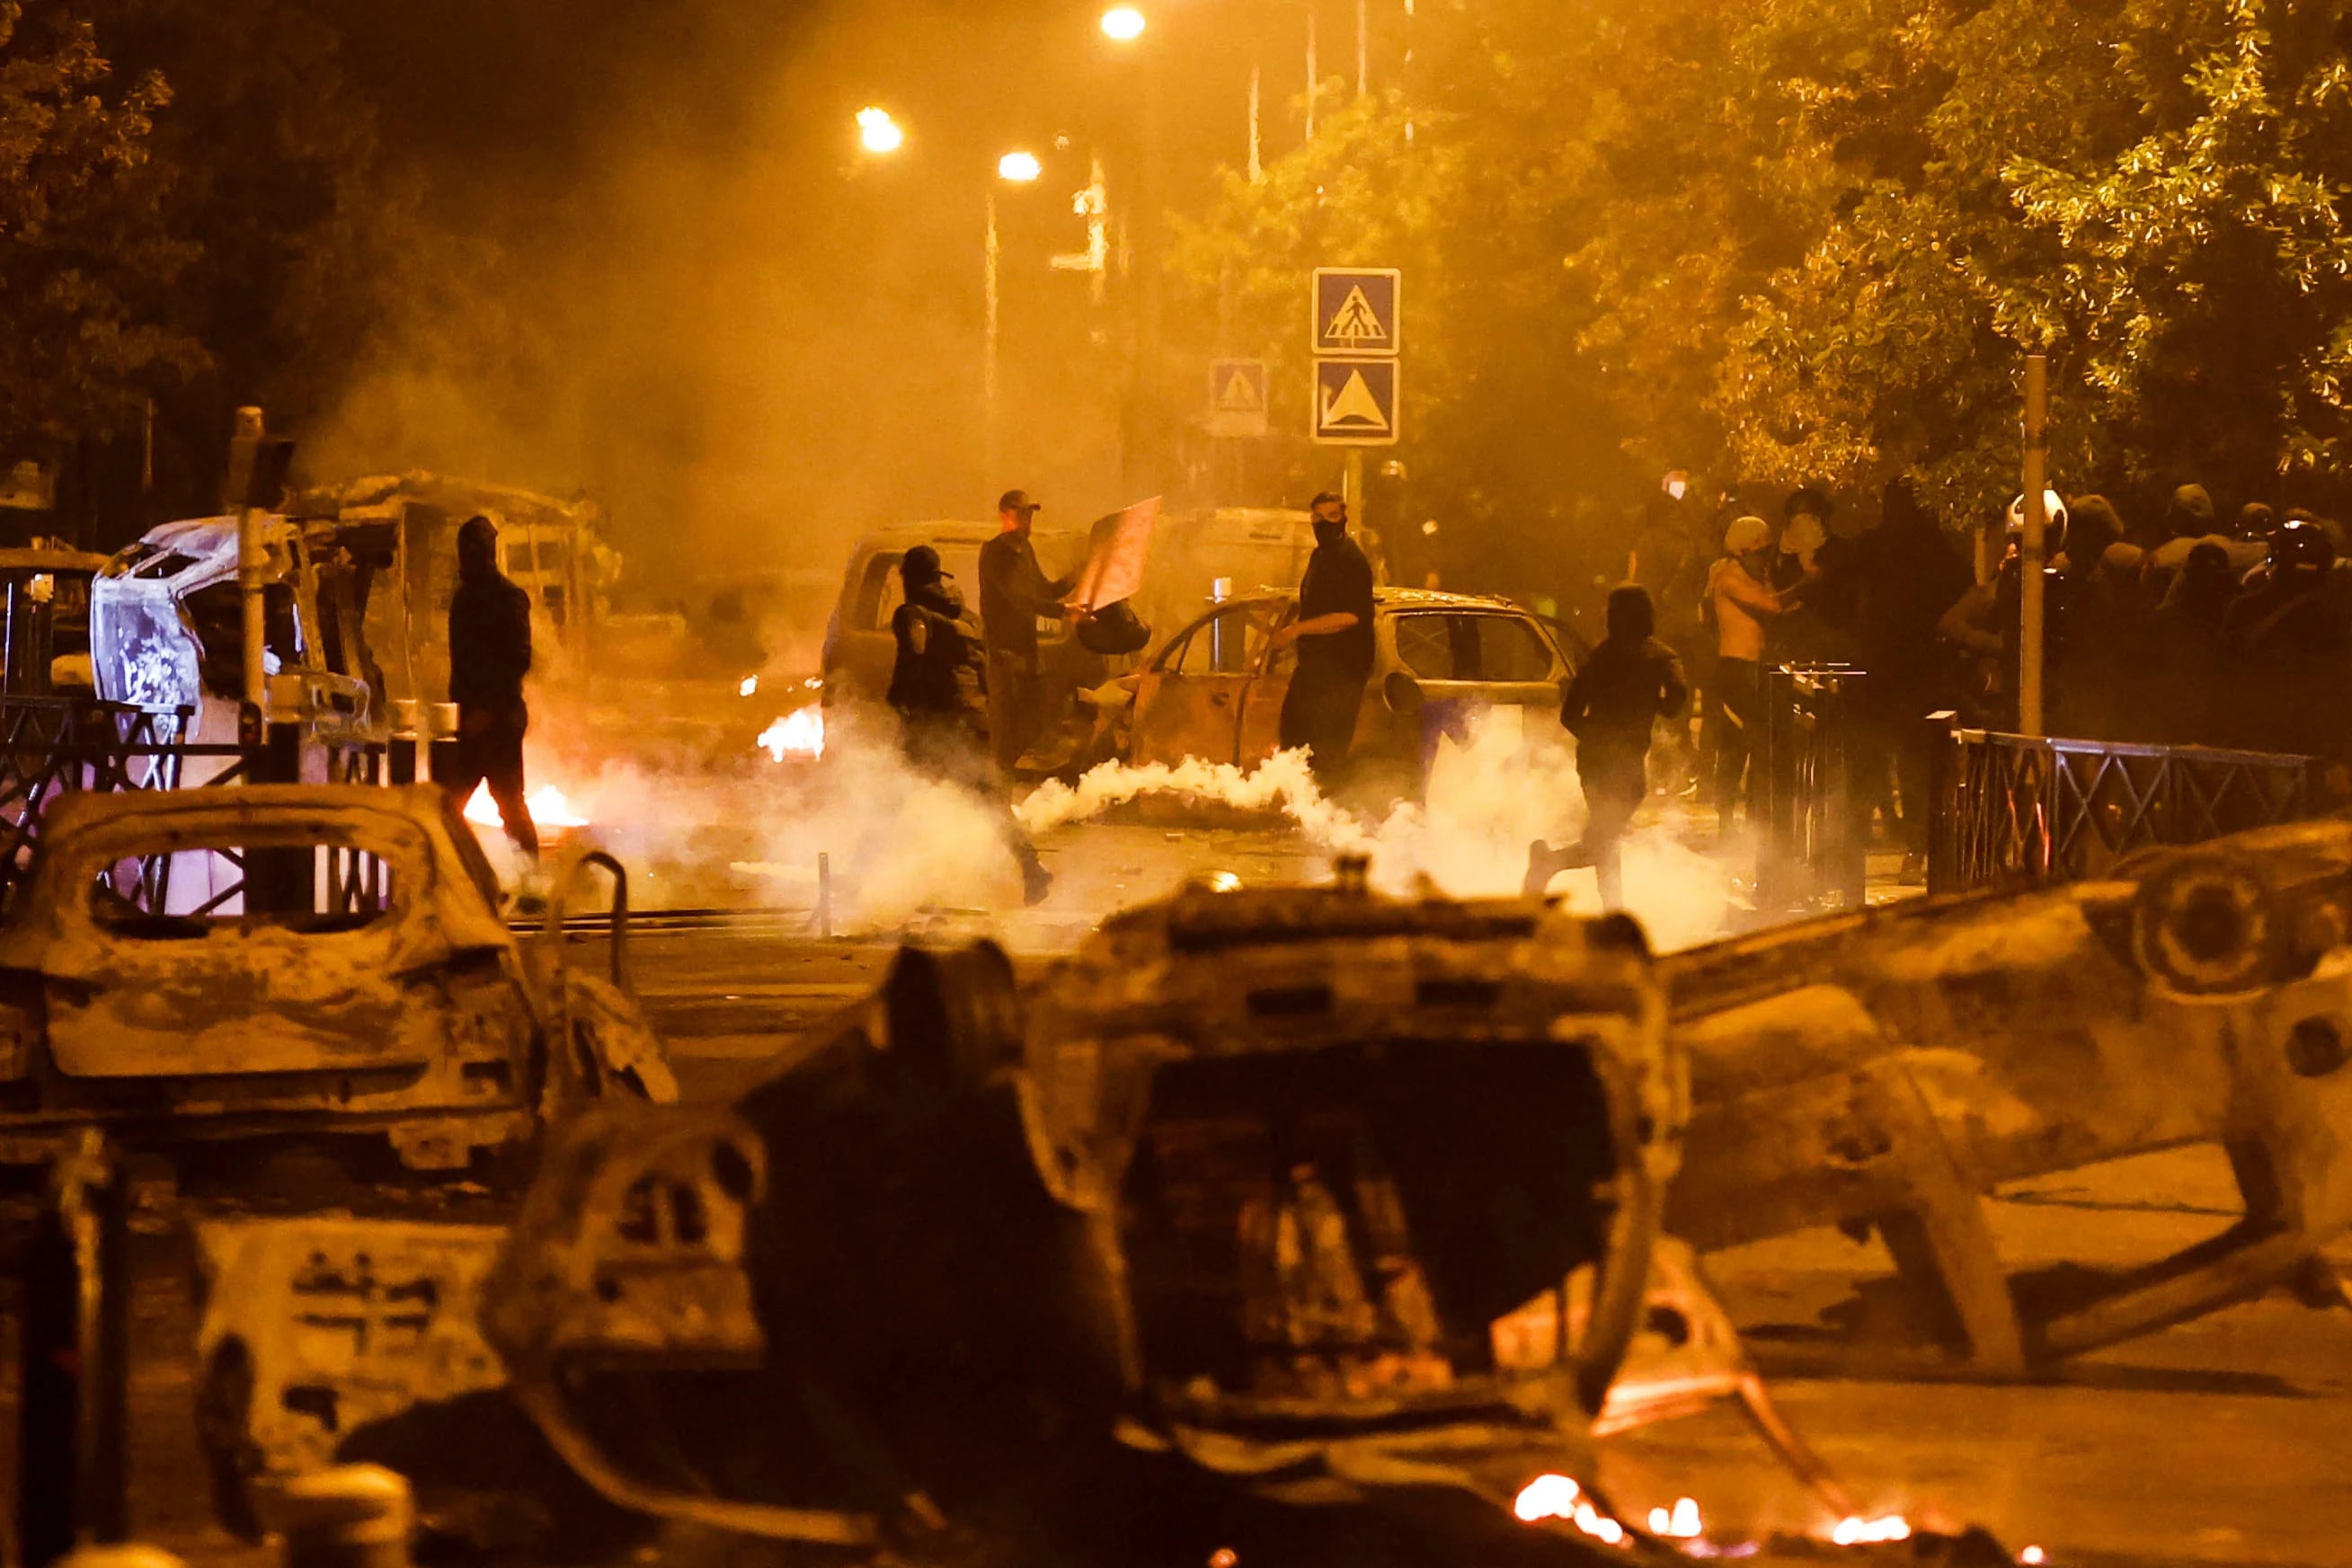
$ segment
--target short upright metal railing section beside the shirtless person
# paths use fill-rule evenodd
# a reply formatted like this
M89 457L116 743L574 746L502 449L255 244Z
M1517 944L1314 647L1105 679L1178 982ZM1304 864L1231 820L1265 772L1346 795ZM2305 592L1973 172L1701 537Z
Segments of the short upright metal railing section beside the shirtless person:
M1870 799L1863 795L1853 665L1764 672L1762 726L1750 759L1757 907L1858 910L1867 886Z

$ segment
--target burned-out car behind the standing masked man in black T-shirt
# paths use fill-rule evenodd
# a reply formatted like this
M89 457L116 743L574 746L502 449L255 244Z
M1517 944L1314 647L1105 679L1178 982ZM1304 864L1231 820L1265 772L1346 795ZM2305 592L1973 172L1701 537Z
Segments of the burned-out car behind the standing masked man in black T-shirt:
M1200 616L1136 677L1131 762L1251 764L1282 729L1296 644L1272 632L1298 616L1298 595L1254 595ZM1463 738L1477 712L1503 712L1524 733L1559 731L1559 689L1573 675L1548 621L1508 599L1376 588L1374 665L1355 724L1355 759L1411 785L1437 738Z

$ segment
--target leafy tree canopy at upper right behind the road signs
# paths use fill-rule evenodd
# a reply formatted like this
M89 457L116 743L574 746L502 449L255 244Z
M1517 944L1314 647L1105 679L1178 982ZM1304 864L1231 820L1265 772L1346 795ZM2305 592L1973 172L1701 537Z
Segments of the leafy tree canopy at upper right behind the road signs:
M1505 527L1682 465L1900 473L1985 515L2027 350L2065 489L2338 487L2340 0L1439 0L1414 26L1399 92L1228 181L1171 266L1289 386L1303 270L1404 266L1432 508Z

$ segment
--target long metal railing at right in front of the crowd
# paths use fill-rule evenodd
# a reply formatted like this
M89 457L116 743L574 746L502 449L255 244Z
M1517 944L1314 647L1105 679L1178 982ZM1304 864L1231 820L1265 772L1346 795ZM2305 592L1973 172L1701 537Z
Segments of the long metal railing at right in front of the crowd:
M2079 882L2154 844L2199 844L2345 804L2314 757L1959 729L1931 715L1929 893Z

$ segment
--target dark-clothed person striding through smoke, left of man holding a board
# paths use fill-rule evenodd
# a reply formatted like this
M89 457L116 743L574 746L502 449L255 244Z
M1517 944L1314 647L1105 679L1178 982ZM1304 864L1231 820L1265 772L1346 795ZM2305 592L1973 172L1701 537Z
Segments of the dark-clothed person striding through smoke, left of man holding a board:
M898 712L908 762L931 778L988 802L997 837L1021 865L1023 903L1054 886L1021 820L1004 804L981 741L981 628L964 611L964 595L938 569L938 550L915 545L898 562L906 602L891 611L898 656L889 675L889 705Z

